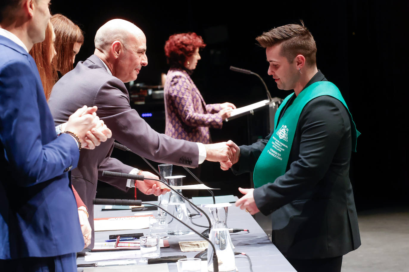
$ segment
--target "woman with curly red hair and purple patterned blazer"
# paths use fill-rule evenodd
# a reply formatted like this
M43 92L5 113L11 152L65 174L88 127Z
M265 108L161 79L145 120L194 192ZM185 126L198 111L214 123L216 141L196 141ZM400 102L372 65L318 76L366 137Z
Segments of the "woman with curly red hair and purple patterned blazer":
M196 33L174 34L165 44L171 68L166 75L164 100L165 134L191 142L211 143L209 127L222 128L234 104L206 104L190 76L200 60L199 49L206 44Z

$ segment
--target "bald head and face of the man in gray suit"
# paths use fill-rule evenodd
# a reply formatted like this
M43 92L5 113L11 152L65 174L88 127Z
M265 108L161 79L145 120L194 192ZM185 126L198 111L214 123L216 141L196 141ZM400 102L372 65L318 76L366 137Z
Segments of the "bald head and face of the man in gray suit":
M122 82L136 80L142 66L148 65L146 37L135 24L122 19L106 22L95 34L95 51Z

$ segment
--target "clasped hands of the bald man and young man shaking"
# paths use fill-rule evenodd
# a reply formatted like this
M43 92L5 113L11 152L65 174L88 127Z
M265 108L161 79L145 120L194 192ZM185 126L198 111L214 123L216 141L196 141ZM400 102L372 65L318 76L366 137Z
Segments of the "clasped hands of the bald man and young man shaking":
M205 144L206 160L220 162L222 170L229 170L240 158L240 148L231 140L216 144Z

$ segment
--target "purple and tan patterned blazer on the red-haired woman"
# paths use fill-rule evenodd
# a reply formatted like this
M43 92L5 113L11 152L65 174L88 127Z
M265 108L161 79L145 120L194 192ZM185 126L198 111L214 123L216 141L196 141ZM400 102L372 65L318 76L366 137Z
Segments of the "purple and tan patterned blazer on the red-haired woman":
M209 127L222 128L220 104L207 104L189 74L171 68L164 86L165 134L175 139L210 144Z

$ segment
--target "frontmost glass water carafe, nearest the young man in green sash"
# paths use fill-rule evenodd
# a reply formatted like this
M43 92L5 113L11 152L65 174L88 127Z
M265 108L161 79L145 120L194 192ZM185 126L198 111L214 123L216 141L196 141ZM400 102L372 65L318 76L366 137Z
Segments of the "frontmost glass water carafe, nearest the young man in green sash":
M233 245L231 243L229 229L226 225L227 209L229 206L231 206L230 203L216 203L205 206L209 208L209 217L211 220L209 240L216 248L220 272L236 271ZM211 245L209 245L207 250L207 270L213 271L213 247Z

